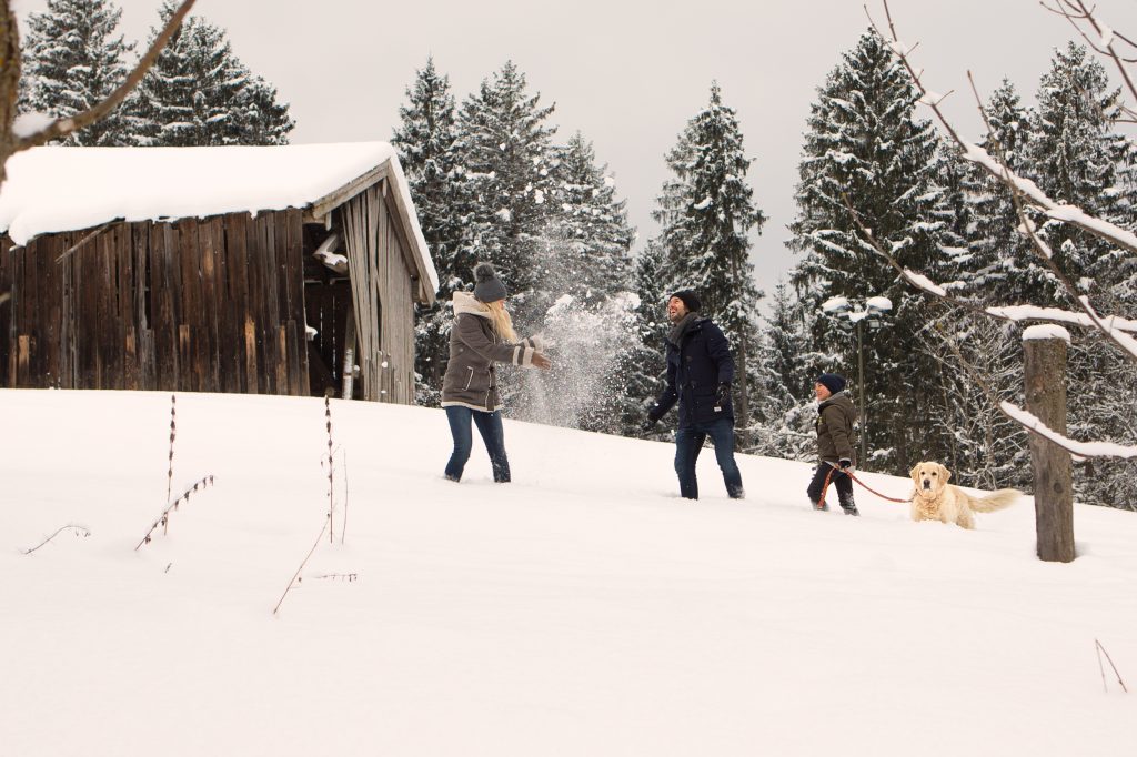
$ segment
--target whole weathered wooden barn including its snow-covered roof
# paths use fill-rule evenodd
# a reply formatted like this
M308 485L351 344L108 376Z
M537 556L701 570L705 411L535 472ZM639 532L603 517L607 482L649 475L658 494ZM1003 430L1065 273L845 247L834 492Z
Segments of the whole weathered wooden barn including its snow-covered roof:
M0 386L414 402L438 275L382 142L36 148L0 189Z

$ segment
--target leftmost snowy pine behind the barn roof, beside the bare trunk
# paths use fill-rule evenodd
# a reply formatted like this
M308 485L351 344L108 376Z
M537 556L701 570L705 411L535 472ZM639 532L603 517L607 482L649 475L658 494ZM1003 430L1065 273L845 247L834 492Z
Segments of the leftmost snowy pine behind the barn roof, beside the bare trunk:
M127 74L133 45L116 34L123 11L107 0L48 0L27 17L20 110L66 117L105 100ZM124 109L69 135L67 145L128 143Z

